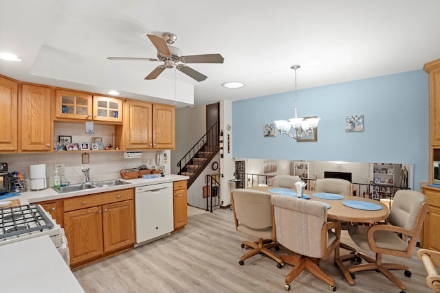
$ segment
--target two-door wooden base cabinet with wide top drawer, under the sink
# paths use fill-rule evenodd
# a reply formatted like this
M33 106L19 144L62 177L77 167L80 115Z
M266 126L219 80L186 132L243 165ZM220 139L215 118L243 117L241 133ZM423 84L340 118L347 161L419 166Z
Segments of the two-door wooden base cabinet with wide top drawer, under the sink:
M133 189L67 198L63 202L72 267L135 243Z

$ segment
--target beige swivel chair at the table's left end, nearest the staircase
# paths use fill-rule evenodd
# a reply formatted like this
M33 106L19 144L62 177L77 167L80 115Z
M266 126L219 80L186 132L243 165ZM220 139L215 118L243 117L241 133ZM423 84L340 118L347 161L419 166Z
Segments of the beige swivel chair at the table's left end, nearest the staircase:
M242 248L252 248L240 258L243 266L245 259L263 253L283 267L283 260L269 249L279 249L274 231L274 213L270 204L270 194L252 189L235 189L231 192L232 211L235 230L256 241L243 241Z

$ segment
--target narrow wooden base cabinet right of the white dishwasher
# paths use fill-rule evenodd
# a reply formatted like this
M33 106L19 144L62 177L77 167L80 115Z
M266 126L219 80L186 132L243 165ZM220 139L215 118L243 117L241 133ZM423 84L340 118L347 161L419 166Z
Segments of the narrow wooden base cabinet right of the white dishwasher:
M173 183L174 231L178 231L188 224L186 191L186 180Z

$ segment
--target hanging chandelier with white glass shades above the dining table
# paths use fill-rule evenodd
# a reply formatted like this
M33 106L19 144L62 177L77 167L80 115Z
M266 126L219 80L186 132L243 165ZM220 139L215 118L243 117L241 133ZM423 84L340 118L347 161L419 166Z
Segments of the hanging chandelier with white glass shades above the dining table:
M295 71L295 118L291 118L287 120L276 120L274 121L276 124L276 128L281 134L286 134L288 137L292 139L298 139L306 136L314 135L316 132L316 128L318 127L318 122L320 118L298 118L296 115L296 69L300 68L300 65L292 65L290 68ZM290 132L290 129L294 128L294 133Z

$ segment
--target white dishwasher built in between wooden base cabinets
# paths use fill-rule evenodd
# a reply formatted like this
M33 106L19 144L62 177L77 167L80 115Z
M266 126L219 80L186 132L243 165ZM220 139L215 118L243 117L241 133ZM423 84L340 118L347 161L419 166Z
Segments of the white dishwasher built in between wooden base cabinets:
M170 235L174 230L173 183L135 189L135 247Z

